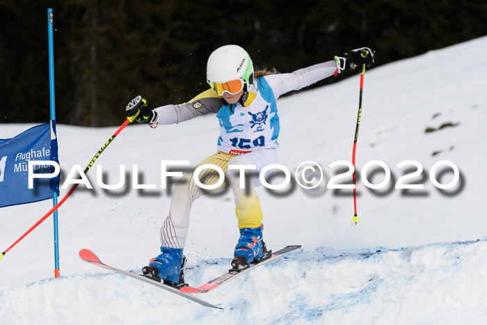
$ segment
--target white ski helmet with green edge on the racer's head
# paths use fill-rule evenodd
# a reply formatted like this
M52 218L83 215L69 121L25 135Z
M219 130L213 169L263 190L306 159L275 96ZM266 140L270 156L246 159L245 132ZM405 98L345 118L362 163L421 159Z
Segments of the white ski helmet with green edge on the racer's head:
M222 95L222 90L218 93L215 83L225 84L228 81L241 80L242 88L250 89L253 84L254 67L247 51L238 45L224 45L214 50L207 63L207 82L217 95ZM240 89L240 90L241 90ZM239 90L239 91L240 91ZM238 92L238 91L237 91ZM228 91L228 93L235 93Z

